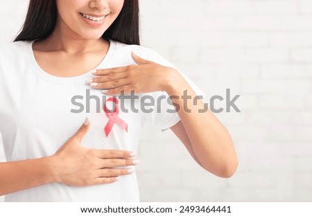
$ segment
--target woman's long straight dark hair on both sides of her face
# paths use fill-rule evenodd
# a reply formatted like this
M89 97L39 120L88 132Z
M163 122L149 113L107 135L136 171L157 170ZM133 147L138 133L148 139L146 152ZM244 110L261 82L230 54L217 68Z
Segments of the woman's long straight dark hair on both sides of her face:
M31 0L24 26L14 42L39 41L49 37L55 28L57 12L55 0ZM119 16L102 37L139 45L139 0L125 0Z

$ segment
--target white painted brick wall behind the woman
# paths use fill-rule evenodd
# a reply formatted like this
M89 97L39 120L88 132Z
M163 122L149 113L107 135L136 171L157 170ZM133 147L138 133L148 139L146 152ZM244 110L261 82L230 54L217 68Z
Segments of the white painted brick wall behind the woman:
M19 29L26 5L0 1L1 43ZM208 96L241 94L242 111L217 114L239 154L232 179L198 167L173 133L146 127L141 200L312 201L312 1L141 0L141 14L144 46Z

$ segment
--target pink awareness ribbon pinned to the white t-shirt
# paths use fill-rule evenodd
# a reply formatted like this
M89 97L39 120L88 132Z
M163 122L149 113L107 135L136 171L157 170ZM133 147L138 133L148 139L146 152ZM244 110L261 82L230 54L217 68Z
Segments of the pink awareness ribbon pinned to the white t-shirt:
M114 102L116 104L116 108L113 111L107 109L107 107L106 107L107 101L111 101L111 102ZM106 124L106 126L104 128L106 137L108 136L108 134L110 134L114 124L118 125L122 129L124 129L126 132L128 132L128 124L125 123L125 121L123 121L121 118L119 118L119 106L118 106L119 101L118 101L118 99L117 98L108 98L106 100L106 102L105 102L105 105L103 107L105 114L109 119L108 123Z

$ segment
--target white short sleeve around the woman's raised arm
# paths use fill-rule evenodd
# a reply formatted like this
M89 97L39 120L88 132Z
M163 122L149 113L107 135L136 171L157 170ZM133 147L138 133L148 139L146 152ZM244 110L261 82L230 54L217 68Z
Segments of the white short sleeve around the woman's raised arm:
M161 55L151 50L148 60L161 64L163 66L170 66L181 73L183 78L189 83L193 91L200 98L205 98L206 94L199 89L184 73L177 69L173 64L164 59ZM175 111L171 99L164 91L157 91L153 93L146 93L141 96L142 111L142 125L154 125L155 127L165 131L180 121L180 117ZM150 102L150 107L146 106Z

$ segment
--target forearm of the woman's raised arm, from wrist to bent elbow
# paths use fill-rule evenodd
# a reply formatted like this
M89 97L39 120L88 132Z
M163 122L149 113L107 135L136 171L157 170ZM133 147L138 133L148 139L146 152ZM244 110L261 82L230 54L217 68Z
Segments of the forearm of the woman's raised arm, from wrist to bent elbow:
M178 83L178 84L177 84ZM189 100L183 100L183 91L188 89ZM187 132L191 143L191 150L203 168L220 177L230 177L237 168L237 156L227 129L220 121L207 110L204 112L204 103L197 100L193 102L196 93L183 79L175 82L166 89L169 96L179 96L172 99L179 108L177 113L180 116L182 125Z

